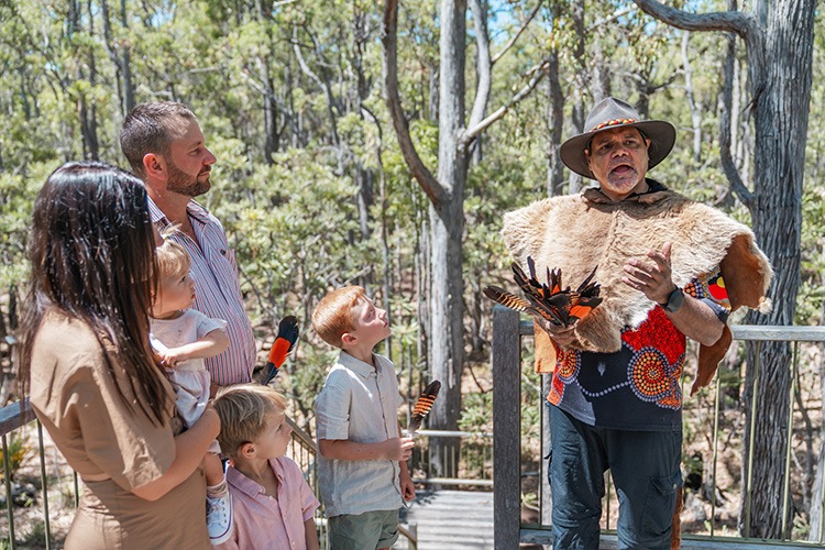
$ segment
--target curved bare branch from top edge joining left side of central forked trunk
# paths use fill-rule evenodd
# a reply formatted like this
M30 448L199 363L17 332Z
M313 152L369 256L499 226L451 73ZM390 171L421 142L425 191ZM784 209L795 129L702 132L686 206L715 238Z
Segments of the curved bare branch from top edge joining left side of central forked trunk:
M432 175L421 161L421 157L413 144L409 135L409 123L404 114L402 98L398 95L398 0L386 0L384 3L384 91L386 94L387 108L393 118L393 128L398 139L398 145L404 155L404 161L409 166L413 177L427 194L435 205L442 205L448 200L448 193L439 180Z

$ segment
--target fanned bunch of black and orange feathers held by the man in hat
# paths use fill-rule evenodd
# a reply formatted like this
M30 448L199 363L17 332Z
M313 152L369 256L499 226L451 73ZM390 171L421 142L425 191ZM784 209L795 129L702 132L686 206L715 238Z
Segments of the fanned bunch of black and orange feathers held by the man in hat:
M527 266L530 270L529 277L520 265L513 263L514 279L527 299L519 298L497 286L486 287L484 296L502 306L546 319L559 327L573 324L602 304L602 298L598 296L602 287L593 282L596 267L579 285L579 288L571 290L570 287L562 287L561 270L548 267L547 284L544 284L540 283L536 276L536 263L530 256L527 256Z

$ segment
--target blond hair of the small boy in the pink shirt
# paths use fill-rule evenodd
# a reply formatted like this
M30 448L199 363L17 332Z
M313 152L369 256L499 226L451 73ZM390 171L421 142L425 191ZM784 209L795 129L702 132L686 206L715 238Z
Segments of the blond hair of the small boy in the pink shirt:
M270 386L235 384L219 389L212 406L221 419L221 452L234 459L242 446L257 441L273 415L286 410L286 399Z

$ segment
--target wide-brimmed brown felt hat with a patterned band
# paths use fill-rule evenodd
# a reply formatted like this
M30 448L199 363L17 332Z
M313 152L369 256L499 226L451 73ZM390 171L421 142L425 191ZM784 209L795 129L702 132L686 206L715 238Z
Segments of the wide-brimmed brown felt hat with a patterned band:
M561 162L576 174L595 179L587 167L584 150L596 133L617 127L636 127L650 140L648 169L662 162L676 141L676 129L670 122L641 120L639 112L630 103L616 98L606 98L587 114L587 120L584 121L584 128L587 129L585 133L575 135L561 144L559 150Z

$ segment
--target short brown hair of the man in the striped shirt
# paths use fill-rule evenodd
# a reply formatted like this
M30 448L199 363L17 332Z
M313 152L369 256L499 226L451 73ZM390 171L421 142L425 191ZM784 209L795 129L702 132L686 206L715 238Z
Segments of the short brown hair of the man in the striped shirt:
M168 156L173 130L193 120L197 120L195 113L176 101L152 101L132 109L120 129L120 148L132 172L143 174L143 157L148 153Z

